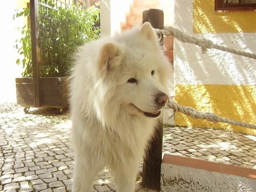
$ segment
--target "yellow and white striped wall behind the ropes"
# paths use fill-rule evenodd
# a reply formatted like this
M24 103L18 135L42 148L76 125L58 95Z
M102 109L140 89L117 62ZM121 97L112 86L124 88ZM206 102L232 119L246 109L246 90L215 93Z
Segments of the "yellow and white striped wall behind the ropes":
M175 27L256 54L256 12L215 13L214 0L175 0ZM256 125L256 60L175 39L175 101ZM256 130L175 114L175 124L256 135Z

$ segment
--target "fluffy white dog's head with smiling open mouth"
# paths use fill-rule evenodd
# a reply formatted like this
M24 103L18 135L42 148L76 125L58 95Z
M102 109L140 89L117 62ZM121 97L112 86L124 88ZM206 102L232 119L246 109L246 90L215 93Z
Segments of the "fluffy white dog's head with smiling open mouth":
M109 113L125 110L144 117L160 115L173 72L150 23L108 39L95 59L101 82L99 100L108 103Z

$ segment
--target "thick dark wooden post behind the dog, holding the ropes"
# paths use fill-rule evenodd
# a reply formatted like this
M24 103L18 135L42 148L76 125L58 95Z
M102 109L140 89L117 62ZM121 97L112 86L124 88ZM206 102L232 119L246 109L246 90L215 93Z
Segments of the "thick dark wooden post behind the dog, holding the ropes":
M150 22L153 28L163 29L163 11L160 9L147 9L143 11L142 23ZM163 45L163 35L161 35ZM148 155L143 160L143 187L160 190L160 170L162 162L163 145L163 119L156 125L156 131Z

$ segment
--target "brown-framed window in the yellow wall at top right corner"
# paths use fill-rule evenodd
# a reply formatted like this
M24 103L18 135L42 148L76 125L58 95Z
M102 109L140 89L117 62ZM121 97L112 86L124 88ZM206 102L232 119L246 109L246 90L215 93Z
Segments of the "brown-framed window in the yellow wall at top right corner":
M256 11L256 0L215 0L215 12Z

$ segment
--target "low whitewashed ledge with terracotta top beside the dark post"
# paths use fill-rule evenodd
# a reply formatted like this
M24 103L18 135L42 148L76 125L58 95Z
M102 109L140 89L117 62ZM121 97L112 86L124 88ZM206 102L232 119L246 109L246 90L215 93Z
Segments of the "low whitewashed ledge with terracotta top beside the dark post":
M256 191L256 169L164 154L162 192Z

